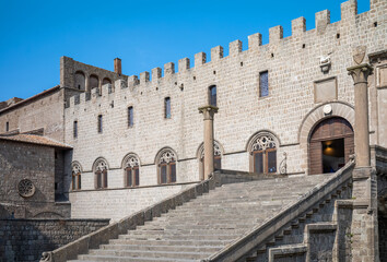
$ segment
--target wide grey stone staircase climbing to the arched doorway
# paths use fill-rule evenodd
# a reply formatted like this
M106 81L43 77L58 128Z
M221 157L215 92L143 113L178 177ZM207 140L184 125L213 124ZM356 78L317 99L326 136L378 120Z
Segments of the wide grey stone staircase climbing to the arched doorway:
M317 175L223 184L70 261L202 261L296 203L330 177ZM272 239L257 247L244 261L268 261L270 255L281 252L303 255L305 225L332 218L324 215L322 209L331 211L333 201L321 201L321 206L279 228Z

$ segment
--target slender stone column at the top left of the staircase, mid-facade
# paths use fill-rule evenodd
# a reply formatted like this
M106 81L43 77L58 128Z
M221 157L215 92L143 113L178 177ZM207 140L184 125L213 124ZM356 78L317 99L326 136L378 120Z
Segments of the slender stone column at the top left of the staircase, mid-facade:
M199 112L204 117L204 174L200 179L208 179L213 172L213 116L218 112L218 107L199 107Z

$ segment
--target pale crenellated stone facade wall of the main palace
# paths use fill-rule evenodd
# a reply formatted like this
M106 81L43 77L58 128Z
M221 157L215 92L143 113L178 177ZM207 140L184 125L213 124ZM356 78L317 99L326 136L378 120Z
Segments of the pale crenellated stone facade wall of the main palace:
M347 68L354 64L352 49L366 46L366 52L386 49L385 3L372 3L372 11L356 14L355 1L341 4L342 19L330 23L329 11L316 14L317 28L306 31L303 17L292 21L292 35L283 38L282 27L269 29L269 43L262 45L261 35L248 37L248 48L235 40L230 44L228 56L222 47L211 50L211 61L206 53L140 76L129 76L128 83L117 81L114 92L109 85L72 97L66 114L66 143L74 147L73 160L81 164L85 189L94 187L93 164L104 157L108 164L109 188L124 186L122 159L129 153L140 160L140 186L155 184L157 163L155 156L165 146L177 154L177 182L196 181L199 177L197 152L203 141L203 120L198 107L208 104L208 88L216 85L219 114L214 120L214 136L223 148L222 167L249 170L250 138L259 131L271 132L279 141L278 166L288 153L288 172L307 172L307 140L300 141L300 129L310 111L326 104L341 104L328 116L353 114L353 81ZM330 53L331 64L322 72L317 57ZM367 57L365 58L367 61ZM259 74L269 72L269 96L259 96ZM322 83L322 84L321 84ZM320 96L315 88L327 84L336 95ZM330 84L332 86L330 86ZM335 93L335 92L333 92ZM372 95L372 94L371 94ZM172 118L164 117L164 98L171 97ZM317 99L318 98L318 99ZM128 126L128 107L134 110L134 123ZM345 109L347 108L347 109ZM97 118L103 116L103 132L97 132ZM73 138L73 122L78 121L79 134ZM379 130L371 134L375 143ZM307 133L313 126L307 127ZM68 184L70 188L70 184ZM75 193L74 193L75 194Z

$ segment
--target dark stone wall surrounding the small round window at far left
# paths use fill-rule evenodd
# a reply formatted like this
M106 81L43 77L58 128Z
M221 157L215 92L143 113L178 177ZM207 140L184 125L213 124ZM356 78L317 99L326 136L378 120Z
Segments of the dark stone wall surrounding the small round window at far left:
M24 206L25 217L69 217L69 203L55 202L54 147L2 140L0 170L0 202ZM20 194L23 179L33 183L33 195Z

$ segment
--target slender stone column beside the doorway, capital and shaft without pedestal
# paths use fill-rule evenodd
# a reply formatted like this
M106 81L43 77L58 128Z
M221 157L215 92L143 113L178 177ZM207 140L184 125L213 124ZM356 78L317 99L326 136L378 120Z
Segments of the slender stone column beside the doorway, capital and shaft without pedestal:
M347 69L352 75L354 85L355 130L354 144L356 167L370 166L370 121L367 78L373 68L362 63Z

